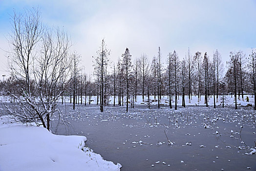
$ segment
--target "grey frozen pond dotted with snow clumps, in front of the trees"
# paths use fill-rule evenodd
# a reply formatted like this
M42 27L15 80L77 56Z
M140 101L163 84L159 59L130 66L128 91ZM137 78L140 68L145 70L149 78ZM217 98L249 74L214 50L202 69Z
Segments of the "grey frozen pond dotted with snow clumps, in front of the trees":
M103 113L96 105L60 108L71 126L60 125L55 133L86 136L89 148L106 160L121 163L122 171L256 170L256 154L245 154L251 152L246 146L253 148L256 141L251 107L175 111L136 106L128 113L125 107L105 107ZM53 131L56 124L52 124ZM175 144L168 145L164 131Z

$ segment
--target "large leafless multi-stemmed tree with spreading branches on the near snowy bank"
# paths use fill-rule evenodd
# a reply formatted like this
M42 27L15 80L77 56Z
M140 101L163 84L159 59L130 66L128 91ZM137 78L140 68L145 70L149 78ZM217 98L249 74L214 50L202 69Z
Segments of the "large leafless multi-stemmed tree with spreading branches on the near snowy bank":
M59 28L43 30L40 12L33 9L20 15L14 12L9 44L10 70L17 80L24 80L26 88L22 96L12 94L17 105L6 105L6 112L18 122L35 122L50 130L55 112L64 121L57 103L63 92L59 85L69 74L69 39Z

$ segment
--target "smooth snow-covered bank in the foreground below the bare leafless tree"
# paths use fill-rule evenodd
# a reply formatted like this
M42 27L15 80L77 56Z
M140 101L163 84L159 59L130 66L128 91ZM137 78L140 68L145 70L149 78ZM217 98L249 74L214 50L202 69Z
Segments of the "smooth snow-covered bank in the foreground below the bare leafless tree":
M0 117L0 171L120 171L85 148L85 136L54 135L47 129L4 124Z

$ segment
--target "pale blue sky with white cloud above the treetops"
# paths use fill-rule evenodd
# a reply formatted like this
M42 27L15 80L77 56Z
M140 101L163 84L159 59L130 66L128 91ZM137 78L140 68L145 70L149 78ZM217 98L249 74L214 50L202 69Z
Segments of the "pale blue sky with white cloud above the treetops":
M230 51L248 56L256 47L256 0L0 0L0 78L9 75L6 38L13 10L32 7L39 7L43 23L64 27L87 73L102 39L113 63L126 47L133 60L146 54L151 61L160 46L162 63L173 50L182 59L188 49L210 58L218 49L224 64Z

